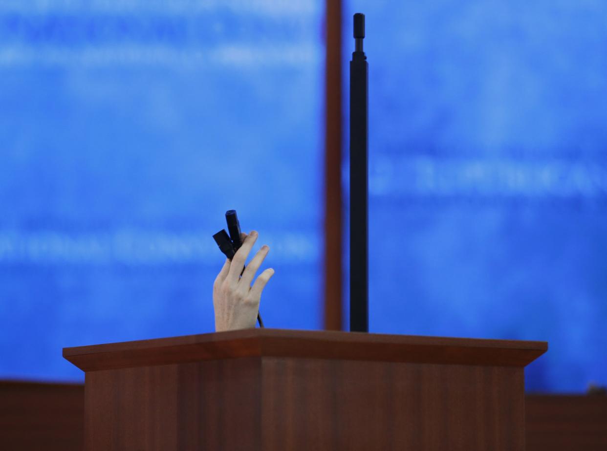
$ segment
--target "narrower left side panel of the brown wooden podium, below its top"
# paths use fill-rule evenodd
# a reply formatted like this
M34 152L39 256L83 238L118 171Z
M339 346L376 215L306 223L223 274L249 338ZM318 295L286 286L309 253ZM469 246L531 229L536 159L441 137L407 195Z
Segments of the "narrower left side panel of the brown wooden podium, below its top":
M93 371L84 449L260 449L260 359Z

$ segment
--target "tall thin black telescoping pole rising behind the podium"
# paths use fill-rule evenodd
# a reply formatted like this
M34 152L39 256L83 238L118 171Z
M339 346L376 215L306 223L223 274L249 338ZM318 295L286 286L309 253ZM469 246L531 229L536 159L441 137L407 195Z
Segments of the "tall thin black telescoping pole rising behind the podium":
M365 16L354 14L350 61L350 331L368 332L368 64Z

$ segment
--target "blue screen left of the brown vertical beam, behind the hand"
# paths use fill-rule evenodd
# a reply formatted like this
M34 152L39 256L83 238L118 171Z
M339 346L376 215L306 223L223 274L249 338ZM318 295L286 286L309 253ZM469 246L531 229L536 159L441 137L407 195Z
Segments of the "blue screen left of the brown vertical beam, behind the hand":
M62 347L212 331L231 208L271 248L266 325L320 327L322 13L2 2L1 378L80 379Z

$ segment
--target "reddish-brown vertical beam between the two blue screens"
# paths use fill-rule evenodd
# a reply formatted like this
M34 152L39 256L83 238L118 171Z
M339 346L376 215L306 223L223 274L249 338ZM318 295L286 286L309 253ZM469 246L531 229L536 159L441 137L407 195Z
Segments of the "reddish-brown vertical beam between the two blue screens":
M325 271L324 326L342 319L342 2L325 0Z

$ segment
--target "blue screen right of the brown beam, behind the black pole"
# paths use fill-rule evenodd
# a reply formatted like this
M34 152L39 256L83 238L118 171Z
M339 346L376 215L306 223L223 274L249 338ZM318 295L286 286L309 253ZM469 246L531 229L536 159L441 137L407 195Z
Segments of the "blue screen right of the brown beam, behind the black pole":
M547 340L527 390L607 384L604 2L350 0L348 59L354 12L371 331Z

